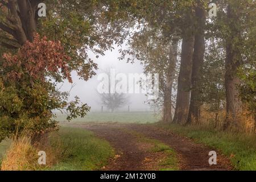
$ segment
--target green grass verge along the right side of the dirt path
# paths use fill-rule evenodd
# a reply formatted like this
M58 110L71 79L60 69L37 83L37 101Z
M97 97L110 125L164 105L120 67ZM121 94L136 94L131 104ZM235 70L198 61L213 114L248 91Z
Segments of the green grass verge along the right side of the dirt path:
M197 143L217 148L228 156L235 169L256 170L256 136L227 133L196 126L162 125L174 133L192 138Z

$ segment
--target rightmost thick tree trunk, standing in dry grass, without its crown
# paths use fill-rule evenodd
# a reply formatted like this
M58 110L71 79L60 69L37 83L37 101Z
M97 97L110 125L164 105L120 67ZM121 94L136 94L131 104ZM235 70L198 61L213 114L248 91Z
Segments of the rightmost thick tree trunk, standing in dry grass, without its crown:
M236 21L237 14L228 6L228 20L229 26L233 27L229 38L226 40L226 59L225 59L225 89L226 89L226 121L224 123L224 130L230 127L237 128L239 119L238 114L241 112L241 100L237 86L240 85L240 79L237 77L237 70L241 64L241 53L234 41L240 38L240 33L233 24Z

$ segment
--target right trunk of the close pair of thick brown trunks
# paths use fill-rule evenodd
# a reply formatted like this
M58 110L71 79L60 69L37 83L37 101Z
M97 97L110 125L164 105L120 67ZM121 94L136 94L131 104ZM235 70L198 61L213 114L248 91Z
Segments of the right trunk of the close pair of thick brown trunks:
M191 124L192 120L195 123L199 123L200 119L200 107L201 107L201 70L203 69L204 63L204 52L205 52L205 9L204 6L198 3L196 7L196 35L195 35L195 46L193 52L193 65L192 65L192 90L191 90L191 100L189 106L189 114L187 124Z

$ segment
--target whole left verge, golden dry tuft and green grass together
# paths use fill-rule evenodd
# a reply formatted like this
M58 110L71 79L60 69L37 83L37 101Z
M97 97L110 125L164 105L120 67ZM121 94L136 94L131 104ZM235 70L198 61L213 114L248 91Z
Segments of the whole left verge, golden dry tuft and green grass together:
M10 150L7 148L10 147ZM39 166L38 151L46 151L46 166ZM27 138L14 143L6 140L0 144L3 170L97 170L114 156L108 142L99 139L88 130L61 127L51 133L38 146L32 146Z

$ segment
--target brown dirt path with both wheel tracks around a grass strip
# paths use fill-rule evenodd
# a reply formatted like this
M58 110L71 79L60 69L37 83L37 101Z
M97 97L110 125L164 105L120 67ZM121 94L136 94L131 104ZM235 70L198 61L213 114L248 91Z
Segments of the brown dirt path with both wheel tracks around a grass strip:
M213 148L205 147L194 143L184 137L180 137L158 127L137 124L86 124L80 125L86 129L92 130L98 137L104 138L112 144L117 155L113 159L106 170L150 170L155 169L154 163L147 164L145 159L154 158L147 150L144 150L145 143L138 141L138 137L132 135L126 130L143 134L150 139L156 139L174 148L179 154L179 167L182 170L230 170L232 169L230 162L220 152ZM217 152L217 165L209 166L209 151Z

